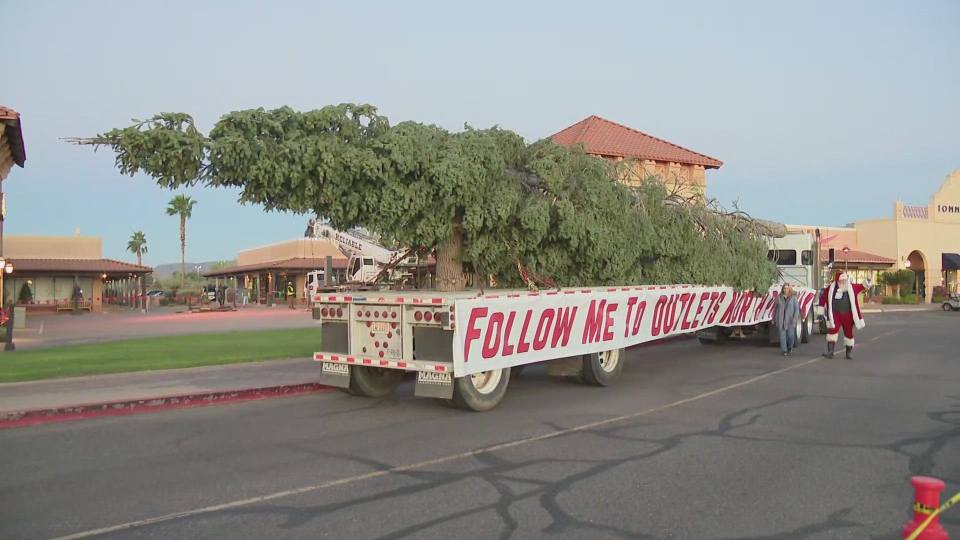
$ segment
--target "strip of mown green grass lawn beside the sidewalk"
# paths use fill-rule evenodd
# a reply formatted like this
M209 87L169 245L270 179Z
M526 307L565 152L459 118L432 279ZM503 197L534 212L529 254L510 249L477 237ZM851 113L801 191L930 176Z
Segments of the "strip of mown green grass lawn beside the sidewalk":
M0 354L0 382L313 356L319 328L183 333Z

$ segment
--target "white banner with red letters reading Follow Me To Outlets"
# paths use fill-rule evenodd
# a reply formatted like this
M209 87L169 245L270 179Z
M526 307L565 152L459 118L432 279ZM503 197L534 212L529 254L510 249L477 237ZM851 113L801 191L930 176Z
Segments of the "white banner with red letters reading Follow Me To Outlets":
M816 292L797 287L801 312ZM456 301L458 376L631 347L713 326L773 318L780 284L764 295L696 285L615 287Z

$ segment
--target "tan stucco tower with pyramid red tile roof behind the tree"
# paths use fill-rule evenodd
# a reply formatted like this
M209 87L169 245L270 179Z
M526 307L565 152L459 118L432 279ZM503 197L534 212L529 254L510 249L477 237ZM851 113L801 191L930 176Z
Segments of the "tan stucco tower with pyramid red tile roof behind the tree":
M633 174L624 179L625 183L658 176L668 189L684 196L706 193L707 170L723 165L723 161L706 154L596 115L588 116L549 138L564 146L583 144L588 154L607 160L634 159Z

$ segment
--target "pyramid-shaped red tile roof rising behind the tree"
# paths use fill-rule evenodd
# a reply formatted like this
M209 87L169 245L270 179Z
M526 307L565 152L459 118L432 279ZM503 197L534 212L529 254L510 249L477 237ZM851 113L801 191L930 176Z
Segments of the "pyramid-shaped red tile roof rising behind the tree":
M572 146L583 142L588 154L642 158L644 160L676 161L719 168L721 160L694 152L668 140L647 135L633 128L592 115L563 131L550 135L555 142Z

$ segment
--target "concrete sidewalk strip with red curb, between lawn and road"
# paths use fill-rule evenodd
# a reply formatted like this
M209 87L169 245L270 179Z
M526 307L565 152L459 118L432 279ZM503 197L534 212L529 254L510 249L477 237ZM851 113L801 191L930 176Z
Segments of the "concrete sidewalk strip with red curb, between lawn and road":
M175 404L222 403L318 391L324 389L317 382L319 370L312 358L296 358L8 382L0 384L0 428L133 412L135 408L158 409Z

